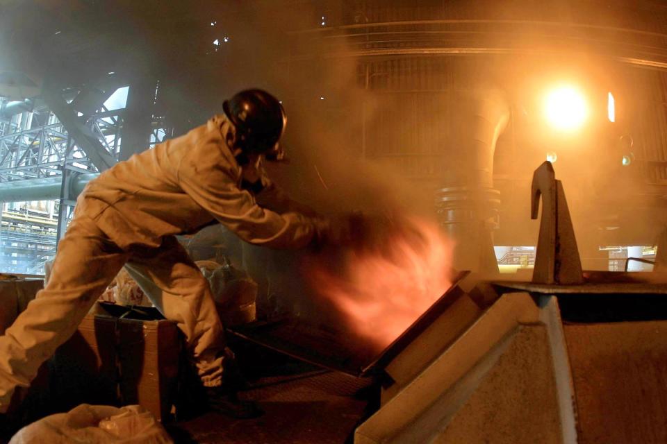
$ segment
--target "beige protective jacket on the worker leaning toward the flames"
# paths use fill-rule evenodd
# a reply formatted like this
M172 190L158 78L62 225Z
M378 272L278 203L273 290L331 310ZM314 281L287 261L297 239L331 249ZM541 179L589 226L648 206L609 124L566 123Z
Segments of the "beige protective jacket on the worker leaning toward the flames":
M158 247L165 236L195 232L216 219L251 244L306 246L318 219L292 211L296 206L265 177L258 196L241 188L242 169L225 142L230 130L216 115L116 164L88 183L78 212L121 248Z

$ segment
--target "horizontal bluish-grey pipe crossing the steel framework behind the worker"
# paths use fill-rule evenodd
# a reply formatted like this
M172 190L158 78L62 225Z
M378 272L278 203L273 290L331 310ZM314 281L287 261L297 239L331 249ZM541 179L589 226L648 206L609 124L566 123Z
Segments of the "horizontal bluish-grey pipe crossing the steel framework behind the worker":
M74 200L83 187L99 176L97 173L81 174L70 182L69 198ZM43 179L13 180L0 183L0 202L29 202L31 200L53 200L60 198L63 178L56 176Z

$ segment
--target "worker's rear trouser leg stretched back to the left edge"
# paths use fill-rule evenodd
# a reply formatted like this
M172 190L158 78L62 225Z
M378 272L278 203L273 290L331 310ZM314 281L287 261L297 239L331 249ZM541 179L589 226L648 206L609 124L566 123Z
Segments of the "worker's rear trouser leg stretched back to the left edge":
M126 258L92 219L70 223L46 288L0 336L0 411L15 388L29 386L40 365L74 334Z

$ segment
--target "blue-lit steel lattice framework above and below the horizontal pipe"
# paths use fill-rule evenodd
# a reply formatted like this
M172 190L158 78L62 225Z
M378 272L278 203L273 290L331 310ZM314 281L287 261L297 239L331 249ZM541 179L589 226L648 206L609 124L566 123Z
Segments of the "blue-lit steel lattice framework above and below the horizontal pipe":
M74 124L79 134L99 142L104 149L102 155L106 154L116 162L122 140L124 109L108 110L104 103L96 103L94 112L85 115L76 110L75 102L84 92L85 89L58 91L54 96L56 100L62 99L58 103L60 113L69 112L76 116ZM104 94L99 100L106 100L108 95ZM68 96L74 99L67 101ZM82 145L85 144L72 137L72 132L46 104L34 106L35 102L31 103L33 107L25 110L11 107L11 103L0 99L3 110L17 111L0 114L0 183L44 178L62 178L66 182L69 175L97 173L99 168L87 153L90 144L84 148ZM50 205L51 212L35 211L28 202L13 204L12 208L3 203L0 272L43 273L44 262L56 252L58 221L65 218L60 227L64 232L72 214L74 199L66 194L55 205Z

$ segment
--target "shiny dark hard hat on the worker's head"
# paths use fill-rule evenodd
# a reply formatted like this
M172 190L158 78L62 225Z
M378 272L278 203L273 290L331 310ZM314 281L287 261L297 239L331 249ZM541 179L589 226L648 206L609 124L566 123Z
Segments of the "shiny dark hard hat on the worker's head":
M239 137L241 148L265 153L278 143L287 117L283 105L262 89L245 89L222 103L224 114Z

